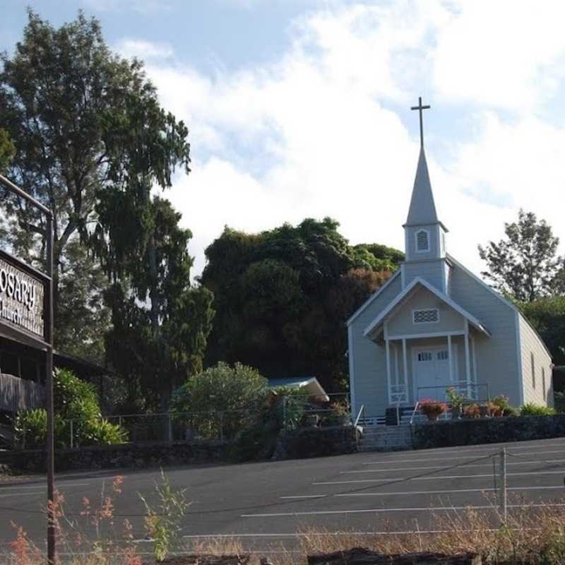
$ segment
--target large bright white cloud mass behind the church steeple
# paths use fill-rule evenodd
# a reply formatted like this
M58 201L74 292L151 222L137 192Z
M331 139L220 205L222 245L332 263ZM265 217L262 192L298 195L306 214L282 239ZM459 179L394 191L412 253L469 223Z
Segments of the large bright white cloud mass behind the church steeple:
M449 153L428 152L451 253L479 272L477 244L500 237L520 207L565 239L565 130L526 113L543 109L558 83L564 40L549 25L525 53L528 14L535 26L551 14L512 6L513 16L475 1L326 8L297 21L272 64L203 76L149 61L163 105L191 129L194 172L168 196L194 232L196 274L225 224L254 232L330 215L353 243L402 249L418 148L416 118L408 130L397 108L422 90L439 101L437 121L455 107L472 124L461 139L449 138L451 124L434 131ZM499 50L495 30L508 43ZM499 107L511 94L509 122Z

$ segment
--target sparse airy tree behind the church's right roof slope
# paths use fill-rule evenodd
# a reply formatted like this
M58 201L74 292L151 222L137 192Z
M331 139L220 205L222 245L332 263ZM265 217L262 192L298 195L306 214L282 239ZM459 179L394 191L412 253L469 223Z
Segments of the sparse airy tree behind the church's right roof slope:
M559 238L545 220L520 210L518 222L504 224L506 239L479 246L487 261L482 273L494 287L519 302L554 294L564 277L564 258L557 255Z

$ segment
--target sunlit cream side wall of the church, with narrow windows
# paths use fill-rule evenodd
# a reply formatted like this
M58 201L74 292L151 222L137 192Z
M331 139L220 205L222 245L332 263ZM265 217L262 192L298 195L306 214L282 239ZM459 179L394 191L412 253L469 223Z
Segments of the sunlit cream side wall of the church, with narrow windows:
M533 402L553 406L552 359L549 357L537 333L533 331L523 316L518 314L522 345L522 375L524 383L524 403ZM531 355L534 359L535 388L532 379ZM542 367L545 369L545 393L542 388Z

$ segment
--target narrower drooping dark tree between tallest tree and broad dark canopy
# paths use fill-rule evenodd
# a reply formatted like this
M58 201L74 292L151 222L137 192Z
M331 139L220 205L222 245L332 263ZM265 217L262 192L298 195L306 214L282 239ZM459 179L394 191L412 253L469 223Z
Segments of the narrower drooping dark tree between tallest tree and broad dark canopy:
M100 208L109 232L125 229L123 210ZM166 409L174 388L202 369L213 295L191 285L192 234L179 227L180 218L155 197L145 206L143 225L130 225L124 239L117 238L119 253L106 248L112 260L104 264L116 281L105 295L112 312L106 352L126 381L126 410Z

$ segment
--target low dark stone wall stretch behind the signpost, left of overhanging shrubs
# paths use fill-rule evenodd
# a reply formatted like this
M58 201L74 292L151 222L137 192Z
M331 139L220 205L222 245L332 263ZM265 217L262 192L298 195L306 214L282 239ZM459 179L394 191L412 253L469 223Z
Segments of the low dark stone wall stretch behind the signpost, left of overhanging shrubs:
M227 460L228 446L225 441L174 441L58 449L55 464L60 472L218 463ZM42 449L5 451L0 454L1 463L20 472L44 472L45 452Z

